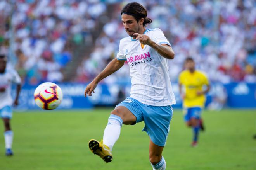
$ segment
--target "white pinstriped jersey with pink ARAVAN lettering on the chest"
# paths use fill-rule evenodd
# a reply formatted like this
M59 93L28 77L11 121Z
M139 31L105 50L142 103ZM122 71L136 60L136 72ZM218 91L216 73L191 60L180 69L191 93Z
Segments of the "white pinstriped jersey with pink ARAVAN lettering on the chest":
M158 28L147 29L144 34L157 44L170 45ZM153 106L176 103L168 73L168 59L131 37L121 39L117 59L127 60L130 65L130 97Z

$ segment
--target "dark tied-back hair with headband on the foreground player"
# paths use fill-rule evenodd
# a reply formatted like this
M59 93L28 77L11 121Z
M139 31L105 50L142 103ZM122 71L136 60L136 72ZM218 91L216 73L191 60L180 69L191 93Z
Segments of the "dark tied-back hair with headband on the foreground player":
M123 7L123 9L121 10L121 15L123 14L132 15L133 17L135 17L137 22L141 18L144 18L144 27L152 22L152 19L147 17L147 9L137 2L132 2L125 5L125 7Z

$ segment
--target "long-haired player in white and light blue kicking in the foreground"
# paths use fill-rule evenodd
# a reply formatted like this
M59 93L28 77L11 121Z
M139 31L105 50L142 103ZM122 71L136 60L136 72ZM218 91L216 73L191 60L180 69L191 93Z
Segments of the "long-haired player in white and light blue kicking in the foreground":
M144 121L143 131L150 137L149 159L153 170L165 170L162 151L173 114L171 105L175 104L168 59L174 58L174 52L160 29L146 29L146 24L152 20L139 3L125 5L121 20L129 37L121 39L117 57L86 87L85 97L91 96L100 80L121 68L125 61L130 66L131 95L111 112L103 141L92 139L89 148L105 162L111 162L111 150L119 138L122 124Z

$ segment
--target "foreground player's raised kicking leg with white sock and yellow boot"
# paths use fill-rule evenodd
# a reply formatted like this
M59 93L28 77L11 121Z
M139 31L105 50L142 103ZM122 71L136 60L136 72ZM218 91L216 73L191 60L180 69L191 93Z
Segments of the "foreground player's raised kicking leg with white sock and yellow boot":
M117 107L111 112L107 126L104 130L103 141L99 142L94 139L89 141L90 150L94 154L100 156L105 162L112 161L111 151L119 138L122 124L136 123L137 117L135 117L134 114L127 109L131 107L127 106L127 104L128 103L125 101L121 102L121 104L117 105Z

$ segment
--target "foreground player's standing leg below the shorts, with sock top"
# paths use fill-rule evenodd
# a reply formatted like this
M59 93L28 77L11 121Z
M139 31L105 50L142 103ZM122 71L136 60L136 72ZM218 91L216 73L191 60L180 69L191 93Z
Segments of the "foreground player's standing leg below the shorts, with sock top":
M166 162L162 156L164 146L158 146L150 140L149 144L149 160L153 170L165 170Z

